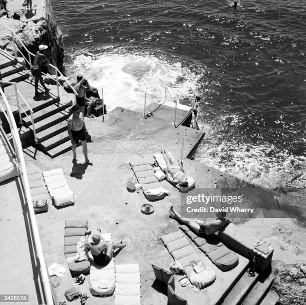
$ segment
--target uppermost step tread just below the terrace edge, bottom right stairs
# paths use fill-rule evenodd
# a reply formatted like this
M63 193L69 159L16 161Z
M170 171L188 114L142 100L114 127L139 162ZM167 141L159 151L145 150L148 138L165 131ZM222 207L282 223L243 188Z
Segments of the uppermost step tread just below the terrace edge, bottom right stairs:
M240 304L249 291L254 287L258 280L258 274L254 277L249 277L245 272L238 280L235 286L231 289L225 299L221 302L222 305L236 305Z

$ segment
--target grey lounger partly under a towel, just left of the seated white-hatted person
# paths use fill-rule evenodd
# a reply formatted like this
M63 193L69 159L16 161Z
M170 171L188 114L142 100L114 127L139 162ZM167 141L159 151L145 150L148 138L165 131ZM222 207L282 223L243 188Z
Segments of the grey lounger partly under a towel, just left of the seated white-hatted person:
M77 253L77 242L85 235L88 230L86 220L66 220L64 234L64 255L65 258L75 257ZM71 275L79 275L88 273L90 269L89 261L69 262L68 267Z

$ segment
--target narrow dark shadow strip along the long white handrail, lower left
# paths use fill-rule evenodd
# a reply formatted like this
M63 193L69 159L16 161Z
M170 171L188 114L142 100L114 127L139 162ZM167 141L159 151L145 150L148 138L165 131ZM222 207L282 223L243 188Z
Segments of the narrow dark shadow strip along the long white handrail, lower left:
M18 194L19 194L19 198L21 202L22 214L24 218L24 226L26 230L29 255L30 255L30 260L31 260L31 265L32 265L33 281L34 281L35 290L36 290L37 304L44 304L45 293L43 289L43 281L42 281L41 272L40 272L40 262L38 259L38 254L36 252L34 234L32 231L32 224L31 224L28 207L27 207L27 203L25 200L25 196L24 196L25 192L24 192L23 185L19 178L15 179L15 183L16 183L16 187L18 190Z

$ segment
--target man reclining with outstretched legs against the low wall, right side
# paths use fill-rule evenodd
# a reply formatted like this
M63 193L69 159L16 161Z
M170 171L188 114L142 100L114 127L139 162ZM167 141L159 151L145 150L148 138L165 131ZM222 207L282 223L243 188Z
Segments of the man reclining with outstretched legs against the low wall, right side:
M216 219L211 219L208 221L182 218L173 207L170 207L169 213L171 218L185 224L196 234L203 233L205 235L211 235L231 222L230 219L225 218L226 213L222 212L216 213Z

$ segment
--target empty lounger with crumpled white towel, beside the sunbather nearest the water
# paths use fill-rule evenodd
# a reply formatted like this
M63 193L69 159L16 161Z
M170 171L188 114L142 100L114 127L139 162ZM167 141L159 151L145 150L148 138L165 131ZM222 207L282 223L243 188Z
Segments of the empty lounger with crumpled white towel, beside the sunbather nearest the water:
M137 181L141 184L141 189L147 200L163 199L166 190L161 188L158 179L154 175L153 167L143 160L138 160L129 163ZM168 193L167 193L168 194Z

